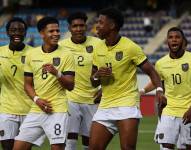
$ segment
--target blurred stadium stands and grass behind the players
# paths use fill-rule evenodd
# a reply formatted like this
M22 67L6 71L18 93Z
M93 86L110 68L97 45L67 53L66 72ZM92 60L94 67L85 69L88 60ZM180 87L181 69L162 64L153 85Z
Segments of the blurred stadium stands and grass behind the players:
M74 11L84 11L88 19L88 35L96 36L97 11L106 7L116 7L125 16L125 24L120 34L131 38L144 50L151 63L168 53L166 44L167 30L179 26L188 40L187 50L191 50L191 1L190 0L0 0L0 46L8 44L5 32L7 21L14 16L23 18L29 28L26 43L39 46L42 40L36 29L36 22L43 16L54 16L59 19L61 38L68 33L67 16ZM139 88L149 81L138 70ZM141 97L141 110L144 116L140 123L138 150L156 150L153 142L157 116L154 92ZM47 142L40 149L49 149ZM79 144L79 149L80 144ZM118 150L119 140L115 138L108 150Z

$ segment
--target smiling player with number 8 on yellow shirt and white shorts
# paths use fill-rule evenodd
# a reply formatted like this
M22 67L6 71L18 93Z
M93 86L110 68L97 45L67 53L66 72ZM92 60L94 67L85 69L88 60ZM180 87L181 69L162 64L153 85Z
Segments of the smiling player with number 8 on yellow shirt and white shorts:
M74 88L74 58L58 45L58 20L44 17L37 24L43 45L27 53L24 87L34 101L15 138L14 150L28 150L46 134L52 150L63 150L68 121L66 90Z

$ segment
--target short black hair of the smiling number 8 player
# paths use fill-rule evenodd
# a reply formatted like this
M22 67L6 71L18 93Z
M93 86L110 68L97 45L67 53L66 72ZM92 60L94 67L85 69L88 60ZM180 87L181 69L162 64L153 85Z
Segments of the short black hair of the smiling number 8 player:
M52 23L55 23L55 24L58 24L59 25L59 22L56 18L54 17L43 17L42 19L40 19L37 23L37 29L38 31L40 32L42 29L44 29L48 24L52 24Z

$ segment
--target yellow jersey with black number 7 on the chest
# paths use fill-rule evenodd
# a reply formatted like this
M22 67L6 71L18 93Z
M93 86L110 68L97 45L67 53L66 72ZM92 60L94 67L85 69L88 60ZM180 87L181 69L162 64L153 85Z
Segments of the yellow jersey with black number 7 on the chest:
M24 91L24 62L27 51L32 51L30 46L25 46L22 51L12 51L9 46L0 47L0 112L26 115L32 100Z

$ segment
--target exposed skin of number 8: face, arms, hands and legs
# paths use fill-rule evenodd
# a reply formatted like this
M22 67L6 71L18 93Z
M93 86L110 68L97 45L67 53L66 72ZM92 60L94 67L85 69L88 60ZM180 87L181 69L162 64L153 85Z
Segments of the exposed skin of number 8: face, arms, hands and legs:
M58 40L60 39L60 30L59 26L56 23L48 24L44 29L40 31L41 38L44 41L42 45L42 50L45 53L53 52L58 47ZM57 77L58 70L53 66L53 64L44 64L42 66L43 72L51 73L52 75ZM24 88L26 93L28 94L31 99L34 98L36 95L34 85L33 85L33 77L25 76L24 78ZM63 88L67 90L72 90L74 88L74 77L71 75L62 75L60 78L57 78L59 83L62 85ZM47 99L39 98L36 101L36 104L41 108L41 110L47 114L52 113L52 106L51 103ZM14 144L13 150L28 150L28 147L32 146L31 143L24 142L24 141L16 141ZM65 144L52 144L51 150L63 150L65 149Z

